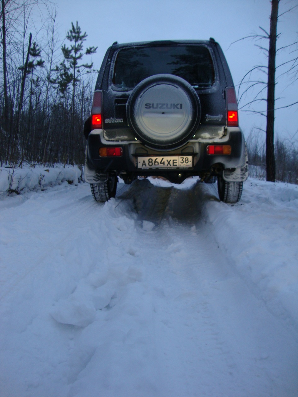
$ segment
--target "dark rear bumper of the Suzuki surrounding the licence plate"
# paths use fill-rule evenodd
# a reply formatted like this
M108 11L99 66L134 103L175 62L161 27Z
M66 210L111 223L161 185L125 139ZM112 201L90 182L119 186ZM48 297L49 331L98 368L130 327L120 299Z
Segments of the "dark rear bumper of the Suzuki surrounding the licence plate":
M230 155L208 155L206 148L208 145L230 145L232 150ZM101 147L117 146L123 150L123 155L120 157L100 157L99 149ZM188 155L193 156L193 167L189 169L158 169L150 168L144 170L137 168L137 157L141 156L174 156L174 155ZM224 169L235 169L244 167L246 163L245 156L245 141L244 135L239 128L230 128L226 136L217 140L197 139L190 140L184 146L169 151L160 151L147 148L139 141L129 142L115 142L106 141L103 136L103 130L95 130L91 133L87 140L86 148L86 170L85 180L93 183L96 179L95 175L100 173L130 173L134 175L161 175L167 177L170 173L183 173L185 177L191 175L200 175L202 173L217 173ZM90 177L88 178L88 175ZM91 175L93 175L91 177ZM228 175L228 173L227 173ZM86 178L87 176L87 178ZM234 173L234 179L238 180ZM89 179L89 180L88 180ZM246 179L246 178L245 178ZM228 176L227 176L227 180ZM244 180L243 177L241 180Z

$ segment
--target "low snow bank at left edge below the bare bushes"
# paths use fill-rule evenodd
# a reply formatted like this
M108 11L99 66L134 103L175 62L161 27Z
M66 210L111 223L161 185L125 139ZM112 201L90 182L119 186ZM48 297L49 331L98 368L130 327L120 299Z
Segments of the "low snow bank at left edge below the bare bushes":
M79 183L81 171L78 167L57 166L45 168L41 166L25 168L0 167L0 194L25 193L27 191L46 190L47 187L61 185L62 182Z

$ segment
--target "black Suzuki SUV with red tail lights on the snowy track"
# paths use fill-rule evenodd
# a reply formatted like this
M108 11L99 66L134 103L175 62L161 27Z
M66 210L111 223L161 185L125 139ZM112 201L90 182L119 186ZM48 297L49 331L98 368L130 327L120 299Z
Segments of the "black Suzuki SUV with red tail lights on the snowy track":
M190 176L237 202L248 177L237 99L214 39L118 44L108 48L86 121L85 181L95 200L116 194L118 176Z

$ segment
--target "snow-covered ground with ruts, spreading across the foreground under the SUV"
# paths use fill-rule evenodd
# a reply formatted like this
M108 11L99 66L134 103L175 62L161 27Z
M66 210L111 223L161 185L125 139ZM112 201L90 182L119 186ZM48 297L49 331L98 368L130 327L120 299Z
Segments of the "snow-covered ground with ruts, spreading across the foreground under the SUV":
M78 171L32 173L47 190L0 200L1 397L298 395L297 185L229 205L150 178L99 204Z

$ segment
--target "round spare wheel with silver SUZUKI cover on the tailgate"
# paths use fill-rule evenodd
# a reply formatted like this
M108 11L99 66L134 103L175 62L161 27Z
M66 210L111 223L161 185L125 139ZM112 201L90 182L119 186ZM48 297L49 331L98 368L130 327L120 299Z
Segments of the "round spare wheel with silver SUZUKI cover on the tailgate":
M201 118L194 88L184 79L159 74L141 81L126 106L135 136L151 148L170 149L192 137Z

